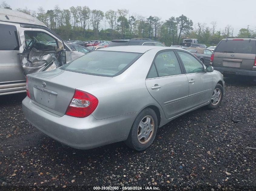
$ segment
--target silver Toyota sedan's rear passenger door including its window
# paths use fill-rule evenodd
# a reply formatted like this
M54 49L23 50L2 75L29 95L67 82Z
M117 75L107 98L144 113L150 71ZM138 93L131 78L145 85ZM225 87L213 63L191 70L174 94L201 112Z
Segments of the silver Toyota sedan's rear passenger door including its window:
M188 79L175 51L161 51L157 54L148 73L146 86L151 96L161 105L167 119L186 110Z

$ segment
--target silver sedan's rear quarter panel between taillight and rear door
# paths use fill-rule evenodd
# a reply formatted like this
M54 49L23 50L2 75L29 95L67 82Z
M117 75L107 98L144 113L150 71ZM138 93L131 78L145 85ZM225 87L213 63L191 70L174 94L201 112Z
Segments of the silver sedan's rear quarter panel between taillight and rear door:
M154 56L154 51L148 51L110 81L78 88L98 98L98 107L92 113L96 119L138 112L150 105L158 107L163 114L161 106L151 97L145 84Z

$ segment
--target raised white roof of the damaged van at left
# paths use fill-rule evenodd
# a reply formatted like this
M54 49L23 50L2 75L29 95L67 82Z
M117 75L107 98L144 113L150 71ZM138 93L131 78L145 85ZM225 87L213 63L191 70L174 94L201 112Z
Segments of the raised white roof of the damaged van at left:
M46 25L31 15L11 9L0 8L0 21L13 23L35 24L46 27Z

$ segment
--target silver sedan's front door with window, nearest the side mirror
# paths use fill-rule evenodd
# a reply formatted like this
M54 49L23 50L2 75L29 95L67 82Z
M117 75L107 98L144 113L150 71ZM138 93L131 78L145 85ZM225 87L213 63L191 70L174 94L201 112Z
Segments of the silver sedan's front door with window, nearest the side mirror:
M210 72L205 72L204 65L194 56L177 51L183 63L189 84L187 109L199 107L210 100L213 92L213 80Z

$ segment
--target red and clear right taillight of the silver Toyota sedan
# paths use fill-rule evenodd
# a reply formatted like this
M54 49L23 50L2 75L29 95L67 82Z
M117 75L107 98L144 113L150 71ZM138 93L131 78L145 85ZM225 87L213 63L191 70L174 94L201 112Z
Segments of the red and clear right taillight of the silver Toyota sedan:
M65 114L73 117L87 117L91 115L97 106L97 97L85 91L75 90Z

